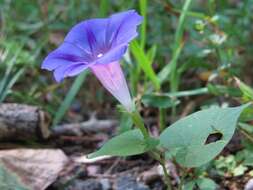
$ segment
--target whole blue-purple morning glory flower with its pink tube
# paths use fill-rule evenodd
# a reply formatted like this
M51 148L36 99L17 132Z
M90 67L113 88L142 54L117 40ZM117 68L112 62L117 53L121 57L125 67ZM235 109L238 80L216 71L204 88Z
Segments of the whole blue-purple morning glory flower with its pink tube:
M141 22L142 17L134 10L80 22L45 58L42 68L53 71L57 82L90 69L128 111L133 111L119 61L129 42L138 35L137 26Z

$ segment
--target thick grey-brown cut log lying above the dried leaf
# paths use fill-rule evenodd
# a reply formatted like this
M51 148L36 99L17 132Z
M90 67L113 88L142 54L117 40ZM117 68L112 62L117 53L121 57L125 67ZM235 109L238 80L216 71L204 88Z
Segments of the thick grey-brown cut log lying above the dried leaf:
M0 141L45 139L50 135L48 114L35 106L0 104Z

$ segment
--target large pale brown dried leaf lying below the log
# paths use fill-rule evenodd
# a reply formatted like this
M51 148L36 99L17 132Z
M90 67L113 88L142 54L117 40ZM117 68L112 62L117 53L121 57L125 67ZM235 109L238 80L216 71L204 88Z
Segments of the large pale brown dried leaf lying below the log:
M59 149L0 151L0 166L31 190L46 189L68 162L67 156Z

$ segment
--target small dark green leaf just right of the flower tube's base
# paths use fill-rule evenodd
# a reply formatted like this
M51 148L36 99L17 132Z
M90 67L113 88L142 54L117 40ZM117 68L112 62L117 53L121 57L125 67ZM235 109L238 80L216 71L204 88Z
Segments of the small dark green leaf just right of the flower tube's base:
M145 94L141 99L145 106L156 108L170 108L179 104L178 100L163 94Z

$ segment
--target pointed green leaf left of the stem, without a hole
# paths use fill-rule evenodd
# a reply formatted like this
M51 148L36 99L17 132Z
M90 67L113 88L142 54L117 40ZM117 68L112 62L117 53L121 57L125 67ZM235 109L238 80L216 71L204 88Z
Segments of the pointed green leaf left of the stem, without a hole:
M159 144L157 139L145 140L139 129L122 133L108 142L102 148L89 155L89 158L97 156L130 156L141 154L155 148Z

